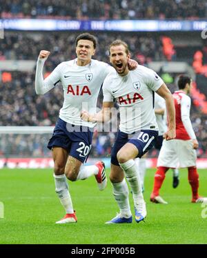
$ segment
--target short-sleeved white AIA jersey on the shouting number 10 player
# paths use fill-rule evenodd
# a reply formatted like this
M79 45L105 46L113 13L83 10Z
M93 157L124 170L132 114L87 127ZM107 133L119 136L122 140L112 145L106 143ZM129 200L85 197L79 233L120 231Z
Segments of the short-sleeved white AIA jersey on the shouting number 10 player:
M154 91L163 83L156 72L145 66L138 66L124 77L115 70L110 72L103 82L103 101L117 101L121 132L158 130Z

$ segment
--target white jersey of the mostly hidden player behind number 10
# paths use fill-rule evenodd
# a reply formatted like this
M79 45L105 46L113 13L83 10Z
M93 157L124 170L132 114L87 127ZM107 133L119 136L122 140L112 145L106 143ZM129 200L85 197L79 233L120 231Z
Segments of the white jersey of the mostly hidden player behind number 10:
M163 109L166 112L166 101L164 98L159 96L157 93L155 93L155 110L156 109ZM156 115L157 119L157 126L159 128L159 135L164 135L165 132L168 130L168 126L166 125L166 115Z

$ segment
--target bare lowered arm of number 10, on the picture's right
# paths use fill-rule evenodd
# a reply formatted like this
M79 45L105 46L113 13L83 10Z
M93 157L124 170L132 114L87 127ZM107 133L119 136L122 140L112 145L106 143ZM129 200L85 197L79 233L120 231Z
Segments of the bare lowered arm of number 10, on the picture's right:
M163 97L166 101L166 109L168 114L168 130L164 134L164 138L168 141L174 139L175 132L175 104L170 90L168 90L165 83L157 90L157 94Z

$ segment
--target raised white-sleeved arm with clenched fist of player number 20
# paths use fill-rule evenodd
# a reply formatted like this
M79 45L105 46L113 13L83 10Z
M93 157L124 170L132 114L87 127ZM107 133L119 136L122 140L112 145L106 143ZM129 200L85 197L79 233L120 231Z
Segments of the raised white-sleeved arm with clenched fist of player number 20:
M55 70L46 79L43 79L43 66L49 54L49 51L41 50L37 59L35 91L38 95L43 95L52 88L54 88L55 84L60 80L57 68L55 68Z

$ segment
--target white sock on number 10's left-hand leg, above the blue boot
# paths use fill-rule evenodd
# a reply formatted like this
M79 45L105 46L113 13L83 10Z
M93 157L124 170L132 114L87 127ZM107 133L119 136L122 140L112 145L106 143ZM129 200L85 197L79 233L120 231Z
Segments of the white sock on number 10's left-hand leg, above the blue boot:
M129 218L132 216L130 211L130 204L128 200L128 186L124 179L120 183L112 183L113 195L120 209L122 217Z

